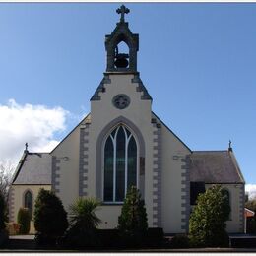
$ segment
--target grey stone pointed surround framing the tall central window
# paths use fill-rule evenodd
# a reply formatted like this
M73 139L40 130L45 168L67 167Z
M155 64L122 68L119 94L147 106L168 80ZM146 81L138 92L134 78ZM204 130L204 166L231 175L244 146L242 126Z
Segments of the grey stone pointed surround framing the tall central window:
M119 116L109 122L100 132L100 134L97 136L97 141L96 141L96 198L102 200L102 143L104 141L104 138L106 134L110 131L110 129L118 124L125 124L127 125L133 134L135 135L138 144L139 144L139 158L144 158L145 159L145 142L144 138L142 136L142 133L140 132L140 129L129 119L127 119L124 116ZM139 170L138 170L139 171ZM140 187L144 190L145 188L145 175L139 175L140 179ZM144 191L140 191L141 195L145 195Z

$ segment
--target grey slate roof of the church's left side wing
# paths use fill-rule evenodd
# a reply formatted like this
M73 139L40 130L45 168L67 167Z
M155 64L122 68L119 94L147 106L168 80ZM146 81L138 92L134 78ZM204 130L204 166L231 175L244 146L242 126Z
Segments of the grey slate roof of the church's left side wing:
M51 156L49 153L24 153L12 184L50 185Z

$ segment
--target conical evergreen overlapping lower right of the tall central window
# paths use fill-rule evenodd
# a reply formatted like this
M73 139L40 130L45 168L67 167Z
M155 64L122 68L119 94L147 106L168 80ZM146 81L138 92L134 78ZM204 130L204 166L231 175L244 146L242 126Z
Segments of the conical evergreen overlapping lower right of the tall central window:
M135 186L132 186L126 194L121 215L118 217L118 229L128 243L141 243L145 238L148 218L144 201Z

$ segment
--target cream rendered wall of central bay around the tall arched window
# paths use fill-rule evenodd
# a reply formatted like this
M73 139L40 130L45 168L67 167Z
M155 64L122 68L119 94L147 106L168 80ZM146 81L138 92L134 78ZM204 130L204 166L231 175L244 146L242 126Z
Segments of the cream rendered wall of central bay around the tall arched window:
M105 85L105 93L99 93L100 100L91 101L92 122L89 129L89 195L96 195L96 140L102 129L115 118L124 116L137 126L145 141L145 204L148 213L149 226L152 225L152 169L153 169L153 128L151 124L151 100L142 100L142 92L137 92L137 83L132 83L133 75L110 75L111 84ZM125 94L130 97L130 105L125 109L117 109L112 104L113 96ZM101 171L103 171L101 169ZM102 198L101 198L102 199ZM103 226L112 228L117 226L116 207L101 207L100 216ZM110 217L111 216L111 217ZM107 221L115 218L116 223ZM107 222L107 224L105 224Z

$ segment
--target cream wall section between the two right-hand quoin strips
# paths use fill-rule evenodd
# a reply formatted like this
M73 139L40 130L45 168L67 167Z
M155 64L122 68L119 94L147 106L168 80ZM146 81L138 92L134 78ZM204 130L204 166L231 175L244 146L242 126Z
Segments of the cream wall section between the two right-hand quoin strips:
M162 205L162 227L164 233L184 233L186 229L181 226L185 223L182 219L186 216L182 211L186 211L182 207L185 203L181 196L186 196L182 192L185 185L181 185L184 177L181 173L185 172L181 166L184 165L182 159L185 159L189 150L162 125L162 187L161 187L161 205ZM173 160L173 156L177 156L177 160ZM189 206L189 205L188 205Z

